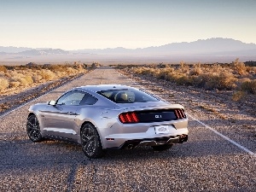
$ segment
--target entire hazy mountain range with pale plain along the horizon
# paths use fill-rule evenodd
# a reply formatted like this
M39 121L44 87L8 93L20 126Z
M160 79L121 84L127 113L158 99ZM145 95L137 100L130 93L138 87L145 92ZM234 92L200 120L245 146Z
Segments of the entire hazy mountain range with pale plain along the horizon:
M125 49L32 49L0 46L0 61L256 61L256 44L232 38L208 38L195 42Z

